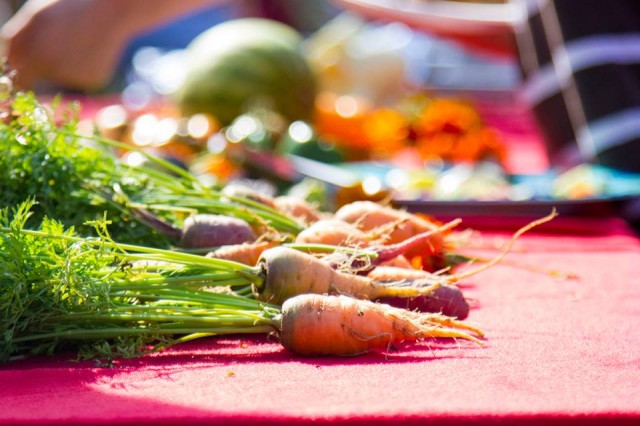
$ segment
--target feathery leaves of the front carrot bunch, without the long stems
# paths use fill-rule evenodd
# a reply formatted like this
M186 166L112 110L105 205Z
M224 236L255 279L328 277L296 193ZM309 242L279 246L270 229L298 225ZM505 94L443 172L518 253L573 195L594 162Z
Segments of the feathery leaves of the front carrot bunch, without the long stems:
M55 318L68 312L108 306L104 289L87 275L113 261L83 244L66 239L43 239L21 232L32 215L29 200L12 210L2 210L0 223L10 231L0 235L0 318L2 340L0 361L19 351L14 337L33 330L54 331ZM73 236L60 222L44 218L42 232L56 236ZM55 342L38 347L50 352Z

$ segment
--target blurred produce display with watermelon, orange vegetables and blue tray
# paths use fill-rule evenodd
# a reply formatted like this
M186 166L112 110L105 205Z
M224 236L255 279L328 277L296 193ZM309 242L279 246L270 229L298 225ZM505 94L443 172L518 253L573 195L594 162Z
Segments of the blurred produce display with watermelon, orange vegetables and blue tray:
M373 38L377 42L368 45ZM411 78L420 64L406 58L424 48L419 38L407 41L413 38L348 14L304 38L279 22L229 21L183 52L167 53L173 62L144 64L143 82L171 81L168 93L164 88L141 106L128 103L125 90L122 102L106 105L87 127L179 164L200 180L262 179L261 190L269 194L302 193L329 209L356 199L391 199L427 211L492 202L507 212L507 203L520 204L515 213L526 203L546 208L560 201L571 208L574 200L582 205L637 195L637 175L593 164L542 173L542 147L535 173L513 174L517 149L510 148L517 143L485 122L487 105L431 91ZM163 74L176 68L184 75ZM121 154L132 164L146 161L137 152ZM321 164L298 165L292 156Z

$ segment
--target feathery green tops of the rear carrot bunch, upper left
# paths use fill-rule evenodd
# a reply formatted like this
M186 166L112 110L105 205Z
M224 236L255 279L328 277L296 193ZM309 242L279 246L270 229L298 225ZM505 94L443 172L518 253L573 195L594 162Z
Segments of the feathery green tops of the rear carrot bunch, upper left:
M92 231L85 221L106 211L113 221L110 231L121 241L166 246L166 239L95 190L118 184L124 191L140 191L147 184L144 175L123 179L126 171L111 151L77 136L76 111L60 111L57 105L54 101L56 110L48 111L31 93L15 95L13 119L0 123L0 205L35 197L33 222L48 216L81 234ZM55 114L61 115L59 125Z

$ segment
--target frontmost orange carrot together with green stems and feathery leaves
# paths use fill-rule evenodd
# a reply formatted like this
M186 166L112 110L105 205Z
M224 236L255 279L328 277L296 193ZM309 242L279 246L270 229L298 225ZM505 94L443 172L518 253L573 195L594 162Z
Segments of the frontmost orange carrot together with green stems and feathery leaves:
M105 236L97 239L77 237L49 220L39 230L25 229L32 205L12 219L0 211L0 267L8 277L0 286L0 362L69 347L81 358L112 360L239 333L277 332L284 347L300 355L357 355L404 340L482 337L477 328L441 315L344 296L303 295L279 307L208 291L212 284L246 288L258 268L119 245L106 235L106 219L95 223ZM134 266L139 261L147 263Z

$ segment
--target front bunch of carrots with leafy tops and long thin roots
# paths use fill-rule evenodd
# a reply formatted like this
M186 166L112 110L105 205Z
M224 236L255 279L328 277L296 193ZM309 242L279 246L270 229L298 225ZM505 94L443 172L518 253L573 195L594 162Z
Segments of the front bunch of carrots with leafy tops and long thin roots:
M438 290L457 289L460 279L489 264L448 276L381 266L406 247L437 244L454 224L364 249L258 246L251 265L218 256L221 249L202 256L119 244L106 218L92 223L97 238L76 236L47 218L26 229L33 204L0 213L0 361L68 348L87 358L133 357L238 333L275 334L285 349L304 356L351 356L430 338L482 343L479 328L442 312L453 308L466 316L466 307L455 306L464 298L438 296ZM256 245L232 247L253 251ZM419 312L375 301L420 296L441 297L444 305Z

